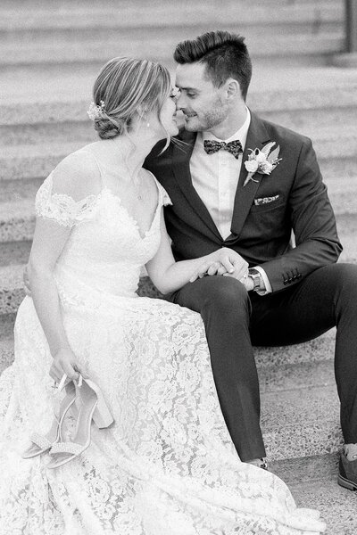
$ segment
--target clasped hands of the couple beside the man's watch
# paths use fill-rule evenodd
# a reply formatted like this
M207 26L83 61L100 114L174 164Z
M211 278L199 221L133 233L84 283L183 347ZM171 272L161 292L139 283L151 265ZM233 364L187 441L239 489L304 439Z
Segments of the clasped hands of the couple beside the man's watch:
M248 278L248 262L228 247L222 247L209 254L190 278L190 283L207 275L232 276L245 285L247 292L253 289L253 281Z

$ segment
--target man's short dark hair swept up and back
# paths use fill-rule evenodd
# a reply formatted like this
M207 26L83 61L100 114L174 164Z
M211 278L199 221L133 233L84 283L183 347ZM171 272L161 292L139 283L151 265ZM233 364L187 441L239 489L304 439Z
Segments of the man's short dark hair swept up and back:
M180 64L204 63L216 87L228 78L237 79L245 99L252 78L252 62L244 41L245 37L228 31L208 31L195 39L181 41L173 57Z

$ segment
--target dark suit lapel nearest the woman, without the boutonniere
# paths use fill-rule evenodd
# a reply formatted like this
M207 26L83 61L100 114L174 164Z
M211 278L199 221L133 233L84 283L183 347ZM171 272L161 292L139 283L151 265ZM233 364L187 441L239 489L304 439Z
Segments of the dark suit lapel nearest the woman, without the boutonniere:
M179 188L185 195L187 202L189 202L193 210L195 210L195 213L202 219L205 226L207 226L213 235L221 241L222 237L212 220L210 212L203 204L201 197L192 184L189 161L195 147L195 138L195 132L185 131L181 136L181 141L185 142L185 144L173 144L172 169Z

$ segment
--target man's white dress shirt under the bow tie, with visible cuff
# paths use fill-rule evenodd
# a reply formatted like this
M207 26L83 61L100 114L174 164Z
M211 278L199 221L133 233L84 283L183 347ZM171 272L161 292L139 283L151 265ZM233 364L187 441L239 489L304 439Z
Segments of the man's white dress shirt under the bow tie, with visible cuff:
M204 151L203 143L206 139L218 142L224 141L225 143L238 139L244 151L250 124L251 114L246 108L244 124L228 139L219 139L211 132L198 132L190 159L192 184L210 212L212 220L224 240L231 234L230 226L232 224L234 200L242 167L243 153L239 154L238 159L223 149L207 154ZM267 290L264 294L271 292L270 282L264 269L260 266L255 268L262 275Z

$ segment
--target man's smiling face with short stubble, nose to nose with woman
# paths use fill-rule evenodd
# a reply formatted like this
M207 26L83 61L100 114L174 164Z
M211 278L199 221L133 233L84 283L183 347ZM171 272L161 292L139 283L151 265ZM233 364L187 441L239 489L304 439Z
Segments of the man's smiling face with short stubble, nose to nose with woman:
M186 63L176 70L180 93L177 108L185 114L185 128L191 132L209 131L228 115L225 86L213 86L203 63Z

